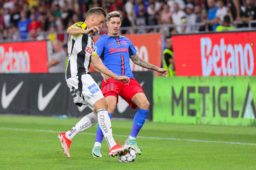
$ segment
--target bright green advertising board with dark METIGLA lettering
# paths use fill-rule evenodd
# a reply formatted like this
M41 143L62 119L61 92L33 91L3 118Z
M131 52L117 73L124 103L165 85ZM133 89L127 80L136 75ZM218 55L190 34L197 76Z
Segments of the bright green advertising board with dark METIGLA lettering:
M154 77L153 121L255 126L256 77Z

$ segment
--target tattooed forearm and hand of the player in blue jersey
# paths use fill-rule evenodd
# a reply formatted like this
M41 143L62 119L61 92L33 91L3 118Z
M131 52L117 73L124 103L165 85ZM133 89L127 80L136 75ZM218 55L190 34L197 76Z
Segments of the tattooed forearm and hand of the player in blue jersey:
M145 61L145 60L143 60L142 58L140 58L140 57L137 55L137 53L135 53L134 55L131 55L130 58L131 58L131 60L132 60L132 62L133 62L134 64L137 64L137 65L139 65L139 66L141 66L141 67L144 67L144 68L146 68L146 69L155 70L155 71L157 71L157 72L159 72L159 73L162 73L162 74L164 75L164 77L167 77L167 73L168 73L168 72L167 72L166 69L164 69L164 68L159 68L159 67L156 67L156 66L153 65L153 64L148 63L147 61Z

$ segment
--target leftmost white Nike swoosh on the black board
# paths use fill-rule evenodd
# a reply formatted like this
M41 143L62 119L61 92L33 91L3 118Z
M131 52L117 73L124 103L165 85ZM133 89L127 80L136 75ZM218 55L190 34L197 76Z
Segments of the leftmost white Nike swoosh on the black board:
M2 98L1 104L3 109L6 109L11 104L12 100L19 92L20 87L23 85L24 81L21 81L8 95L6 95L6 83L4 82L3 91L2 91Z

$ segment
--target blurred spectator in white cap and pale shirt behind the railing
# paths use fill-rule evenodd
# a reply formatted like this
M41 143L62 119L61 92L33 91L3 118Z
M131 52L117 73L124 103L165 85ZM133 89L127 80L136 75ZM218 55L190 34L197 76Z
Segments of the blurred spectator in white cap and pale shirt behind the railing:
M187 12L187 23L188 24L196 24L196 14L194 13L194 5L193 4L187 4L186 5L186 12ZM187 26L186 27L186 33L192 33L195 31L195 26Z

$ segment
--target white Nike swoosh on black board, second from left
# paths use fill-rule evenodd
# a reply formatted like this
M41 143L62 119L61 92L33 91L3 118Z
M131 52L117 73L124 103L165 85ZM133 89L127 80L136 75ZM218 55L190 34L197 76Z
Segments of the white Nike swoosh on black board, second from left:
M38 100L37 100L37 106L40 111L43 111L47 105L50 103L52 100L54 94L57 92L61 85L61 82L59 82L55 87L43 97L43 84L41 83L39 86L39 91L38 91Z

